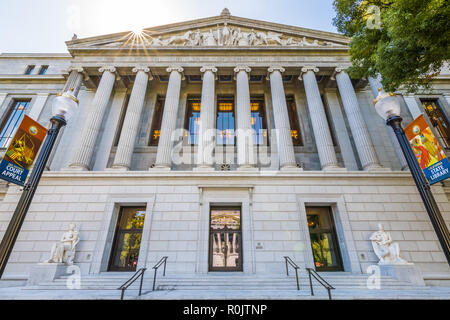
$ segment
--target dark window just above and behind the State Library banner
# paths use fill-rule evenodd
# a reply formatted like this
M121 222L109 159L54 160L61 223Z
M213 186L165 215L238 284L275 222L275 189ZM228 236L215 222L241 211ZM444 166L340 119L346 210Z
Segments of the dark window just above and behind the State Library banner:
M438 99L423 99L422 106L430 119L432 126L436 129L439 142L445 148L450 148L450 125L447 115L442 110Z

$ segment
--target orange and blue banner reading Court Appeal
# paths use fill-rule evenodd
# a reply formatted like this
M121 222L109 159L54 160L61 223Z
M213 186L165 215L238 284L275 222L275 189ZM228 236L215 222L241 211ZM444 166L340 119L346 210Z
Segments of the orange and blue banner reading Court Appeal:
M46 128L25 115L0 162L0 178L23 186L46 135Z

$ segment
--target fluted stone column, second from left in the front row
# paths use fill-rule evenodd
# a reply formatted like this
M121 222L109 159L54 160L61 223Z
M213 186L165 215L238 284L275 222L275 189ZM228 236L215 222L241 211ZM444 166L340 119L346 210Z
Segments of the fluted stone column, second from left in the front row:
M147 91L148 73L150 69L137 67L133 68L133 72L136 72L136 78L128 102L127 113L123 121L122 132L120 133L119 144L117 145L116 155L112 165L113 169L130 170L131 157L133 156L139 120Z

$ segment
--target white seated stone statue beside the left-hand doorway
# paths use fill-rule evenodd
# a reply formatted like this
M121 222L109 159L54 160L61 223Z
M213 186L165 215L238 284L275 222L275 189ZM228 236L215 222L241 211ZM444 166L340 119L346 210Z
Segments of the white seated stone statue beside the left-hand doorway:
M45 262L72 265L75 258L75 246L80 242L78 234L75 224L69 224L69 230L63 234L60 242L53 244L50 259Z

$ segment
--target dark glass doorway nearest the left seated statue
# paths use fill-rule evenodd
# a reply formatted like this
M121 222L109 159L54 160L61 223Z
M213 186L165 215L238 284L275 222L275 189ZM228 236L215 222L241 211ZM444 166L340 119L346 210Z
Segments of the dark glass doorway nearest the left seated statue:
M136 271L145 207L122 207L117 219L108 271Z

